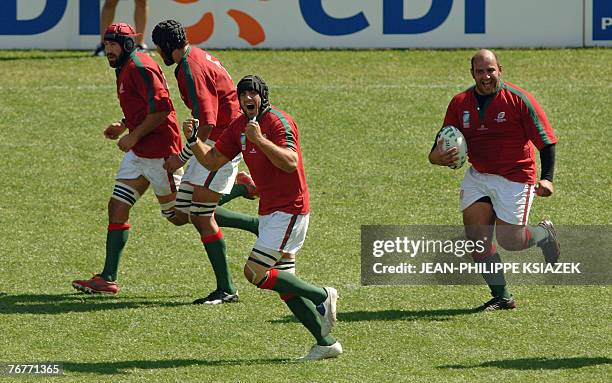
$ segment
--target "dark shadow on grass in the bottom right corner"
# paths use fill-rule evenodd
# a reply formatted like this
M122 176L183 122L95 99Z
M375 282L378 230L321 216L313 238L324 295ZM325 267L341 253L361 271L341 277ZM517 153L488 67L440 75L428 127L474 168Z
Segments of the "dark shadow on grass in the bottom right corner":
M574 358L522 358L522 359L504 359L491 360L475 365L451 364L446 366L438 366L441 369L467 369L494 367L509 370L566 370L582 367L597 366L602 364L612 364L612 359L596 357L574 357Z

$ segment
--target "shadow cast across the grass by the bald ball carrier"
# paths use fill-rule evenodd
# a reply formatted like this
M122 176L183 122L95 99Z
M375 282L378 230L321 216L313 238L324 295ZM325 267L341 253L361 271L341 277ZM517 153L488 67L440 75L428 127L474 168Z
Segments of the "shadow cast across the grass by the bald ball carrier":
M454 316L469 315L480 312L478 308L473 309L438 309L438 310L382 310L382 311L348 311L338 312L340 322L363 322L363 321L395 321L395 320L424 320L424 321L446 321ZM293 316L272 320L272 323L297 322Z

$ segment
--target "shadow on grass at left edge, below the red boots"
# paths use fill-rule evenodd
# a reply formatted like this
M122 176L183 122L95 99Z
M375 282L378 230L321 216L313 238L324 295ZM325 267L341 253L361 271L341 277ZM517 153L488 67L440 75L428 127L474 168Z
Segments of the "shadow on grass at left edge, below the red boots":
M125 308L176 307L191 302L169 301L174 297L141 298L74 294L0 295L0 314L63 314Z

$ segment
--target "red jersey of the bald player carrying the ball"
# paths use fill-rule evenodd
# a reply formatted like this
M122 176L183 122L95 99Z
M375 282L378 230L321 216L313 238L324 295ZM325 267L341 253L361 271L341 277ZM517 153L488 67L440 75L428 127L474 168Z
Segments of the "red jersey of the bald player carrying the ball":
M533 145L541 150L557 142L544 110L530 93L505 81L490 102L479 109L474 88L453 97L444 125L461 130L469 162L479 172L535 184Z

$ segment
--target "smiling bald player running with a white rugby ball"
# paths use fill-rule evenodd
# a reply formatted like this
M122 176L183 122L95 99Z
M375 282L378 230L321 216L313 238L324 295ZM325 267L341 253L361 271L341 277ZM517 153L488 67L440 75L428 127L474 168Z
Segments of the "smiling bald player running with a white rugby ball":
M485 241L485 250L473 253L475 262L500 263L493 243L505 250L541 248L547 263L559 259L559 242L552 222L528 225L534 195L550 197L553 192L557 137L535 98L525 90L503 81L502 66L490 50L479 50L471 60L475 85L453 97L443 126L454 126L465 137L470 166L461 184L460 207L468 239ZM429 153L434 165L453 166L456 148L445 150L438 140ZM533 147L542 165L536 178ZM491 269L491 268L487 268ZM513 309L503 271L482 274L493 298L480 307L485 311Z

